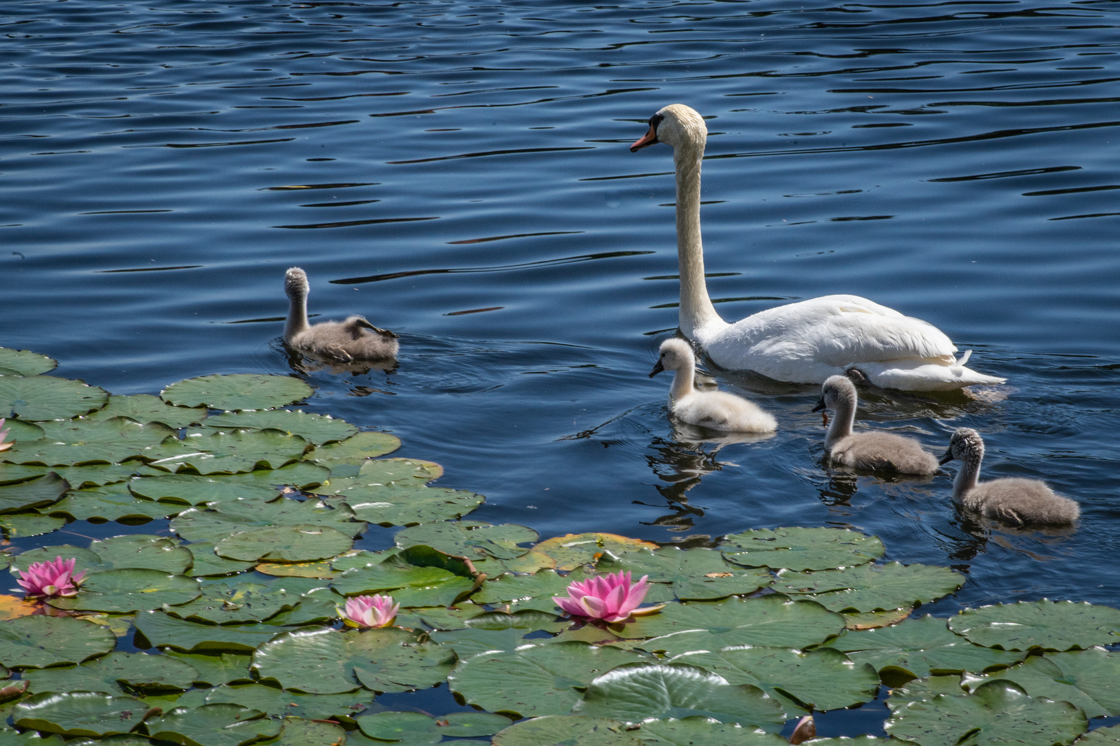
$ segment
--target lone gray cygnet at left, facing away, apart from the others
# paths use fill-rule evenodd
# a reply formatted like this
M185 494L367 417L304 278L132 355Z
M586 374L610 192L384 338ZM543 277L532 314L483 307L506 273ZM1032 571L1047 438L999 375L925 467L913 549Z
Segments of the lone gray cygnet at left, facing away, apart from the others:
M396 355L396 334L374 327L362 317L324 321L314 327L307 323L307 273L299 267L284 274L283 290L290 301L283 341L292 349L343 362L383 360Z

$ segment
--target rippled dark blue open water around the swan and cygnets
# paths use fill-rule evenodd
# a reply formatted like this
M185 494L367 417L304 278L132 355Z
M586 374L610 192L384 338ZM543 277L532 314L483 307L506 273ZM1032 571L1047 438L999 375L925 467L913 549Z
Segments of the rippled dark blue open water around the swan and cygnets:
M487 495L472 518L852 527L968 574L935 613L1120 605L1118 21L1114 0L10 1L0 344L118 394L291 374L298 265L312 313L363 313L402 350L299 370L307 408L440 462L438 484ZM1076 498L1075 532L962 521L952 472L825 468L813 387L709 370L778 434L673 432L646 377L676 325L671 151L627 145L676 102L708 120L725 318L853 293L936 324L1008 385L872 395L860 422L939 450L980 429L986 474Z

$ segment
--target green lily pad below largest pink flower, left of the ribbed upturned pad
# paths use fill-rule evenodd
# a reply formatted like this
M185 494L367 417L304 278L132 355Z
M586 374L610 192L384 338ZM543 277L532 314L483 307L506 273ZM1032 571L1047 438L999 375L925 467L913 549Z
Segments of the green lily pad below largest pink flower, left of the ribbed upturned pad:
M579 701L577 688L623 663L650 660L640 653L586 642L525 645L459 662L448 686L467 703L520 717L564 715Z

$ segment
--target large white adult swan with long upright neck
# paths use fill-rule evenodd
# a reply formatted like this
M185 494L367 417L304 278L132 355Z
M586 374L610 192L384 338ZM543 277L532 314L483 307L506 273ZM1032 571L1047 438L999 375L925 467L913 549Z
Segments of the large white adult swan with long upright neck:
M824 295L760 311L729 324L719 318L703 274L700 242L700 161L708 128L688 106L671 104L650 119L637 151L663 142L676 167L676 255L681 272L680 328L711 360L776 380L821 384L858 365L876 386L913 391L1002 384L964 367L956 347L932 324L856 295Z

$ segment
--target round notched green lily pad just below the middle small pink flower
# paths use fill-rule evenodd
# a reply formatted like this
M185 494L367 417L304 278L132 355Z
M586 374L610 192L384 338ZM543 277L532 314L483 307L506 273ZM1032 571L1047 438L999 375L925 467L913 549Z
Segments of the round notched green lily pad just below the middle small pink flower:
M326 627L284 632L253 655L253 671L284 689L314 695L424 689L447 678L455 660L449 648L416 644L399 627L343 633Z

